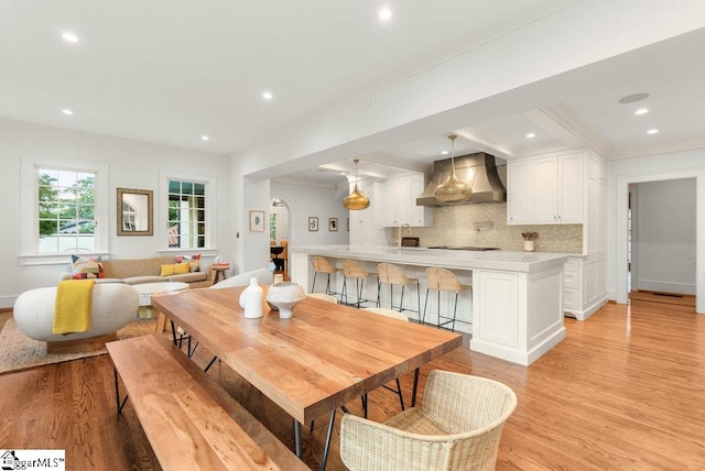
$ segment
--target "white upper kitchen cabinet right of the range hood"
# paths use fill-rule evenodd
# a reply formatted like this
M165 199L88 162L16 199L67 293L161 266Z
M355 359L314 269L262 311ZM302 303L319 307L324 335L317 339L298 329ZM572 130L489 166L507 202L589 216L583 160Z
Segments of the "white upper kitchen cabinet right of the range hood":
M507 223L582 223L584 160L579 151L508 163Z

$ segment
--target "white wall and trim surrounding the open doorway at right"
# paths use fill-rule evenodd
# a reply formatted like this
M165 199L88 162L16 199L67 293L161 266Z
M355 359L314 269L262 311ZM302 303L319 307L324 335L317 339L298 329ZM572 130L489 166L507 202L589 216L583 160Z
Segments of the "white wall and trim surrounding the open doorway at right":
M607 289L610 299L627 303L629 185L676 178L695 178L695 310L705 314L705 205L697 205L705 201L705 149L609 163Z

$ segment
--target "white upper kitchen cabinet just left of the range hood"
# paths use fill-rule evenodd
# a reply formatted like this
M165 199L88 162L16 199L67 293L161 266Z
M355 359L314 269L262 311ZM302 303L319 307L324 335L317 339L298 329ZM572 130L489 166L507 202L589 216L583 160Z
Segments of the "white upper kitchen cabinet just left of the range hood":
M416 196L423 191L423 174L388 179L383 184L382 226L431 226L432 211L427 206L416 206Z

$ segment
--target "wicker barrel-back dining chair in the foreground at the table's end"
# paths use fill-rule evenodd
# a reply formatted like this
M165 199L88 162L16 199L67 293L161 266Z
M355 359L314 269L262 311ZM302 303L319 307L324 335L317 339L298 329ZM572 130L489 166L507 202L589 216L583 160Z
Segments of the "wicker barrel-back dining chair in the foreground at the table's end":
M516 407L517 395L502 383L433 370L421 408L384 424L345 414L340 458L351 471L494 470Z

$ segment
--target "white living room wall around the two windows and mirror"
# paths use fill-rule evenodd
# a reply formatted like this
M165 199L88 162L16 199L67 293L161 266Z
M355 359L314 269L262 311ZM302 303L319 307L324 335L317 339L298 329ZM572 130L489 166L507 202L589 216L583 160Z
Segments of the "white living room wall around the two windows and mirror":
M214 240L216 249L232 256L234 243L229 238L228 209L230 205L230 185L228 182L228 160L225 156L149 144L138 141L107 138L97 134L67 131L15 121L0 120L0 209L3 229L0 231L0 261L6 267L0 272L0 307L11 307L15 297L30 288L56 284L66 262L28 266L20 258L21 215L21 160L23 155L41 158L79 161L107 165L109 168L109 250L111 256L140 258L154 256L164 248L160 243L163 231L154 227L154 236L117 237L117 195L116 188L139 188L154 191L154 221L163 213L159 207L160 172L206 176L216 180L216 211L219 220L215 222ZM28 195L33 197L33 195ZM165 210L165 209L164 209ZM223 216L223 218L220 218ZM9 269L9 270L8 270Z

